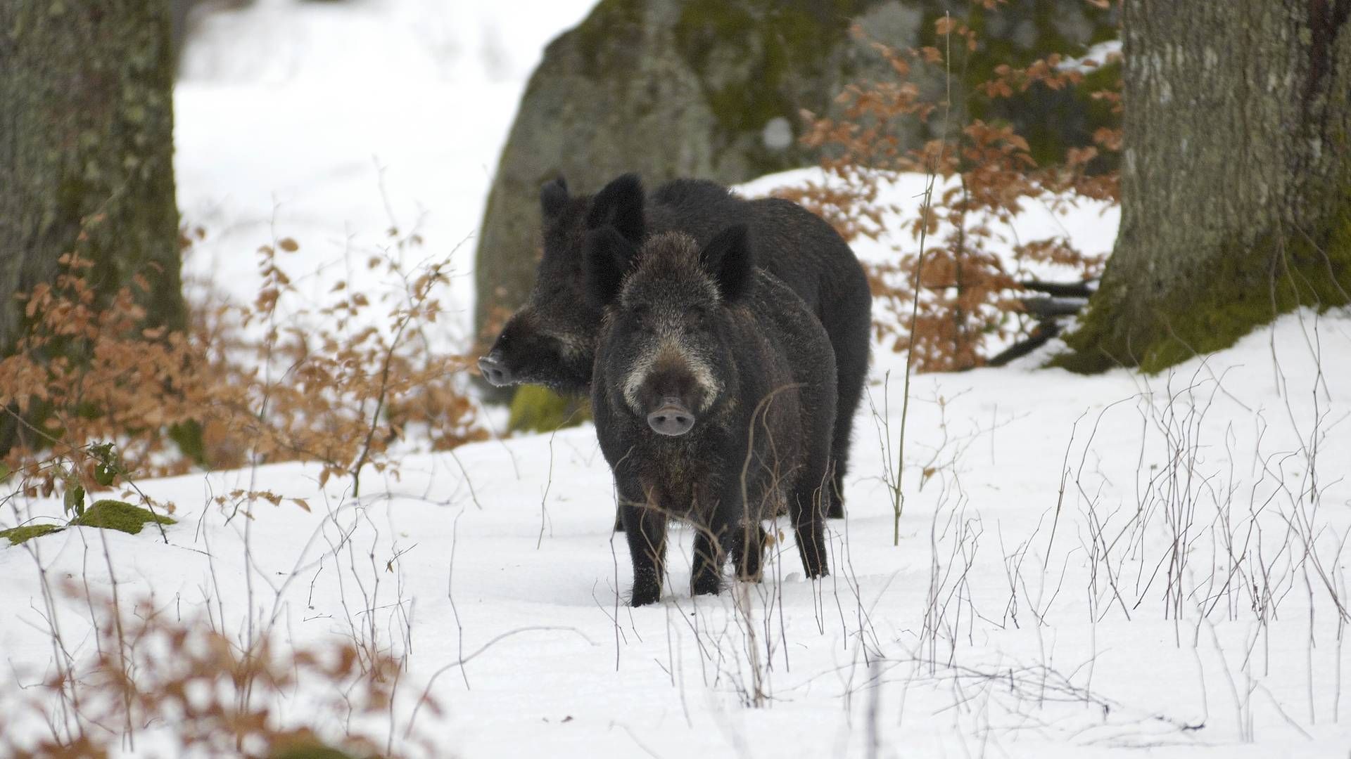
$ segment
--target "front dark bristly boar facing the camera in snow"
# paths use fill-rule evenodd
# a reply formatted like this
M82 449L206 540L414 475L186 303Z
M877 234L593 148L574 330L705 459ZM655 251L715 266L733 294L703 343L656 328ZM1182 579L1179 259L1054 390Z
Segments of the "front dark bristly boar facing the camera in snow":
M744 226L703 248L678 232L640 250L612 227L588 235L585 281L605 308L592 412L635 606L661 597L669 519L696 528L696 594L719 592L728 554L759 579L761 521L784 511L808 577L828 571L835 358L807 304L751 255Z

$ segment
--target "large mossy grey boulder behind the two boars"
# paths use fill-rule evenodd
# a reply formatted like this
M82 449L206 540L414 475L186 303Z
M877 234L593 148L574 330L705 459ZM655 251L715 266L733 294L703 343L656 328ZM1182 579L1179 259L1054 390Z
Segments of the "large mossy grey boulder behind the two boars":
M962 81L981 81L997 62L1082 53L1115 35L1115 18L1085 0L1013 0L996 11L969 11L959 0L601 0L546 49L503 150L476 258L480 338L490 340L534 284L544 181L562 174L574 192L594 192L638 172L650 185L676 177L736 184L816 163L797 140L801 111L836 115L847 82L892 76L874 41L934 45L934 22L946 11L971 12L984 35ZM862 38L850 32L855 24ZM942 97L940 68L916 77ZM1050 96L1058 100L1048 111L1042 100L1028 100L1025 112L969 111L1034 127L1055 119L1073 124L1073 143L1086 143L1089 119L1079 111L1089 105ZM958 100L963 109L966 99ZM898 128L908 145L928 136L920 124Z

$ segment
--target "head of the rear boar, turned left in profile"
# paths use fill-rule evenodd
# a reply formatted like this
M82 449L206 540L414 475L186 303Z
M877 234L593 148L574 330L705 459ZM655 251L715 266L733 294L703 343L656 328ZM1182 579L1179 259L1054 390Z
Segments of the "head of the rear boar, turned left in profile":
M478 359L497 386L534 384L565 393L590 385L601 308L586 297L582 244L589 228L613 226L627 239L643 235L643 188L626 174L594 197L570 196L558 178L539 192L543 257L530 300L503 327L488 355Z

